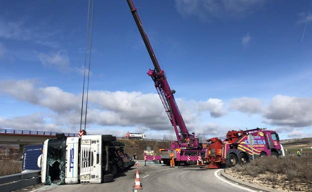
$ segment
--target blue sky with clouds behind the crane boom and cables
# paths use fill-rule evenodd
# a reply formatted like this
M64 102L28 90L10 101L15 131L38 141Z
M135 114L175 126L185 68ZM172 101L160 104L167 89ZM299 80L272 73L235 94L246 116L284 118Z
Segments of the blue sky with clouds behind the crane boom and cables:
M312 136L311 0L134 3L191 131ZM87 1L0 4L0 128L77 132ZM172 134L125 0L95 1L92 46L87 130Z

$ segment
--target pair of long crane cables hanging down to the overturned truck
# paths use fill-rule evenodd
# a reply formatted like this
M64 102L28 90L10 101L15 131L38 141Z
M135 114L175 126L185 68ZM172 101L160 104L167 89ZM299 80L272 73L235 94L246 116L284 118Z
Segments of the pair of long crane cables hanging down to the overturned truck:
M90 7L91 5L91 7ZM90 10L91 8L91 10ZM81 101L81 114L80 114L80 130L82 127L82 113L83 113L83 97L84 97L84 84L85 84L85 70L87 60L87 47L89 45L89 58L88 58L88 78L87 78L87 91L86 91L86 104L85 104L85 117L84 117L84 130L86 128L86 112L87 112L87 101L88 101L88 90L89 90L89 77L90 77L90 63L91 63L91 52L92 52L92 34L93 34L93 15L94 15L94 0L88 0L88 15L86 23L86 35L85 35L85 54L84 54L84 72L83 72L83 86L82 86L82 101ZM90 18L91 16L91 18ZM91 20L90 20L91 19ZM90 24L89 24L90 22ZM89 34L89 25L90 34ZM90 36L90 38L88 38Z

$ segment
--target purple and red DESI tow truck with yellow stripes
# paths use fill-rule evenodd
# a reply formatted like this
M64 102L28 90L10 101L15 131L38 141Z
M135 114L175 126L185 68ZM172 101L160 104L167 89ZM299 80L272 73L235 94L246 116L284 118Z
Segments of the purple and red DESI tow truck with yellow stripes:
M253 137L253 145L248 142L248 135ZM279 144L279 137L275 131L266 129L252 129L246 131L228 131L226 139L207 140L207 149L203 161L208 168L233 167L244 164L254 158L264 156L283 157L284 150Z

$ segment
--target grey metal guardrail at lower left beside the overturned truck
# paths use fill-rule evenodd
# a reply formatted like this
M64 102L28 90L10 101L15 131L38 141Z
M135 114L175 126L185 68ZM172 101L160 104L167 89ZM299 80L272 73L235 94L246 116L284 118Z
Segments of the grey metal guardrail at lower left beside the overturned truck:
M11 192L21 188L40 184L40 170L0 177L1 192Z

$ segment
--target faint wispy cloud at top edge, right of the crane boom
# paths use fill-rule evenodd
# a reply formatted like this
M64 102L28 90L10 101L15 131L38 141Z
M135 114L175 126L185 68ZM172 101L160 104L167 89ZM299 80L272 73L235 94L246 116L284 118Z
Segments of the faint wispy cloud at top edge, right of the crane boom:
M264 4L265 0L175 0L177 11L200 19L239 17Z

